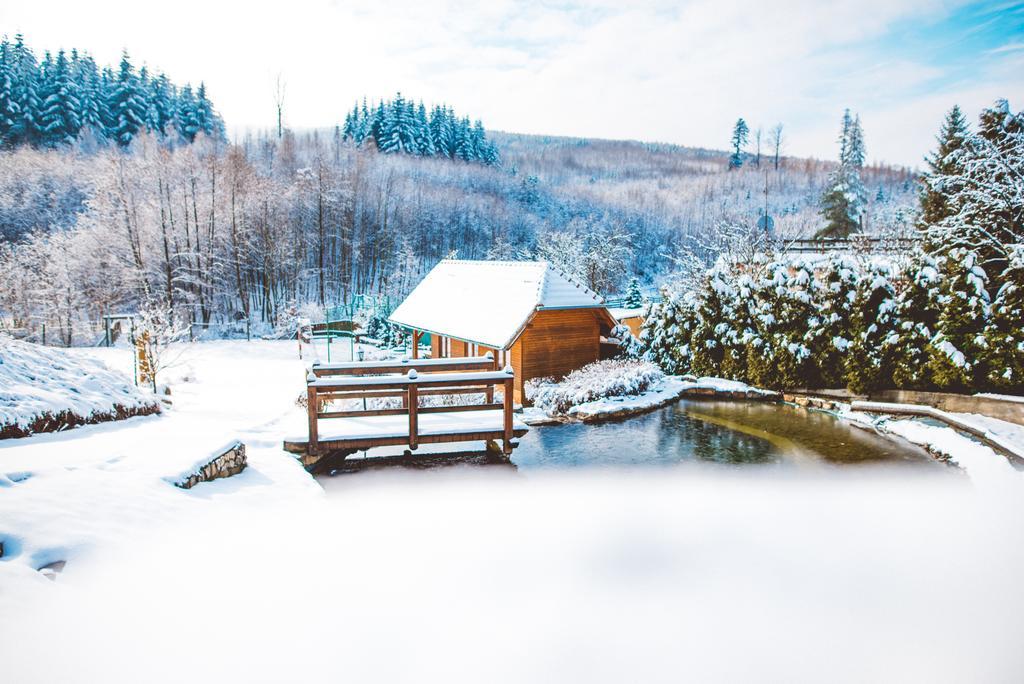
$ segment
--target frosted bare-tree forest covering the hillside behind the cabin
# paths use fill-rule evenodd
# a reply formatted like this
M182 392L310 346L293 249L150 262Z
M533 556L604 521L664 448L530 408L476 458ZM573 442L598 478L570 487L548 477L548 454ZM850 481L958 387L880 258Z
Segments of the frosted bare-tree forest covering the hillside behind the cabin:
M756 232L766 203L777 233L813 234L836 166L752 153L730 170L725 152L482 135L499 164L380 154L346 140L343 122L236 144L140 132L125 148L4 152L4 325L83 343L104 313L171 306L185 322L269 328L354 293L394 300L452 253L541 256L614 293L633 274L656 285L679 255L710 265ZM863 177L867 228L906 229L912 174Z

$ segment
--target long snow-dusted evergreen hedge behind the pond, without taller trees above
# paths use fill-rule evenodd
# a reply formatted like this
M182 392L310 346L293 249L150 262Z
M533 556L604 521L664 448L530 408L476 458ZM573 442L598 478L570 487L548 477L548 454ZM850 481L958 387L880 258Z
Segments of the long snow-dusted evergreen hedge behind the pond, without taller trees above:
M1024 250L1000 287L967 250L722 260L641 330L667 373L772 389L1024 391Z

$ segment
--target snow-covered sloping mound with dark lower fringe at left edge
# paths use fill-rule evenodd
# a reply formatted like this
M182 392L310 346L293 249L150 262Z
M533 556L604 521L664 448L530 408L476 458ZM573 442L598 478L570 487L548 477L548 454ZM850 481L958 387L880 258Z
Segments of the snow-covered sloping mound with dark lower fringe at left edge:
M159 411L153 394L98 360L0 335L0 439Z

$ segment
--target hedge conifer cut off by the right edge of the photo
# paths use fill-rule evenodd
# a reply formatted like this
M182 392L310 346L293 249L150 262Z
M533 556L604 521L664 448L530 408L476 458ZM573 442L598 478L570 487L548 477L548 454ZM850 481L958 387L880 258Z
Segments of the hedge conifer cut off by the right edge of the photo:
M985 330L986 367L993 387L1024 393L1024 245L1009 252L1007 269Z

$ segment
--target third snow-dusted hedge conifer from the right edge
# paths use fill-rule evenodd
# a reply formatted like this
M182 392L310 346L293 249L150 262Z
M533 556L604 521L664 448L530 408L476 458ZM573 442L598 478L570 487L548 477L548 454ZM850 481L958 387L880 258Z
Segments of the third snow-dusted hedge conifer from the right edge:
M891 344L896 387L930 388L928 344L938 331L941 312L938 262L919 249L902 268L896 294L898 329Z

